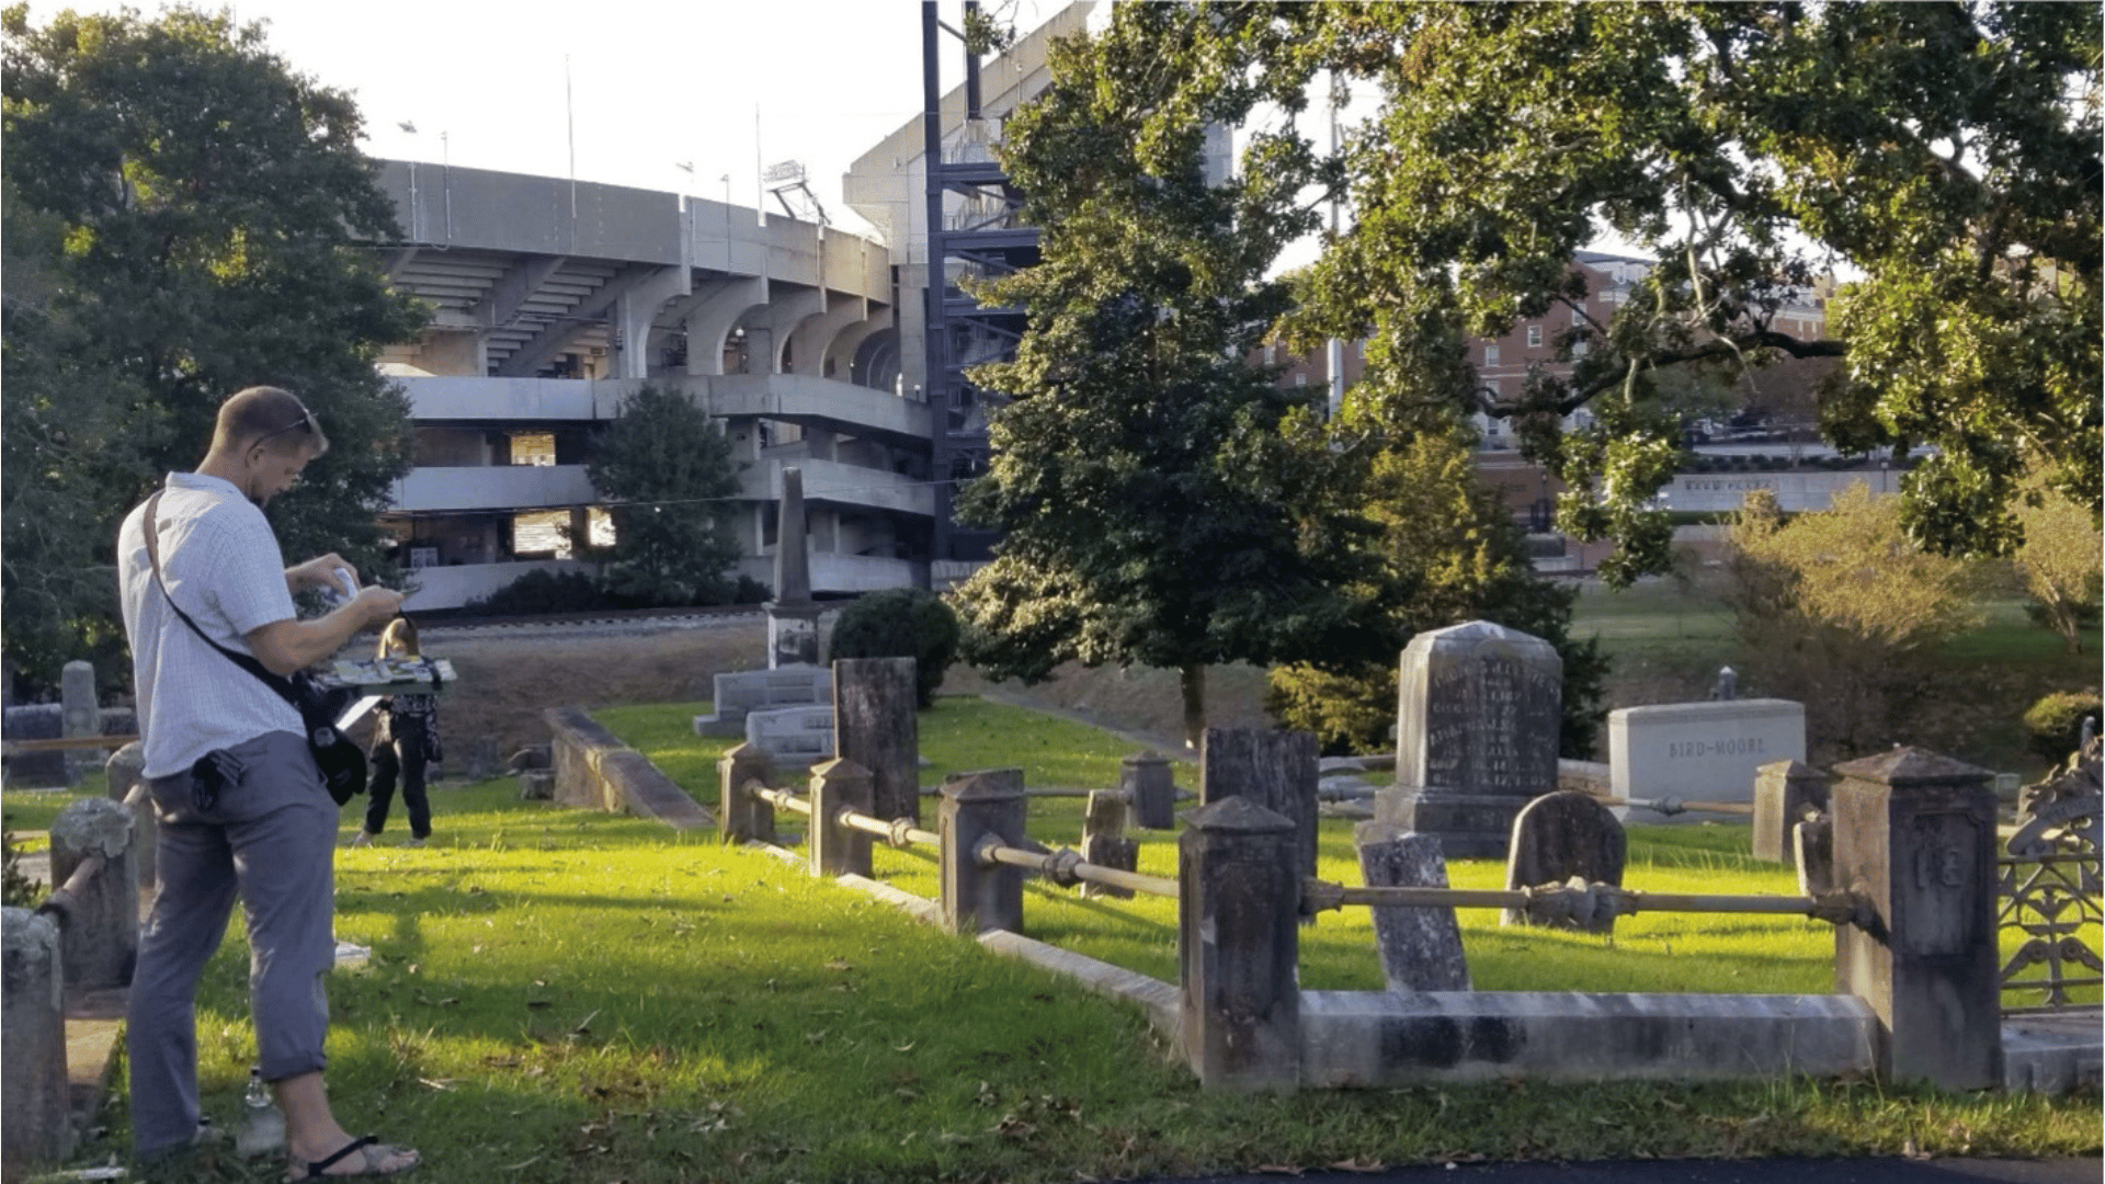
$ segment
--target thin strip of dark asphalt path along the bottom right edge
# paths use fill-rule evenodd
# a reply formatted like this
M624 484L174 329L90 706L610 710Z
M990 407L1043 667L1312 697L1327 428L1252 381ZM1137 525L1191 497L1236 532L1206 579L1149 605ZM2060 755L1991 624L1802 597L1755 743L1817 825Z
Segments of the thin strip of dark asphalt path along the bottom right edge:
M2099 1184L2088 1159L1642 1159L1147 1178L1135 1184Z

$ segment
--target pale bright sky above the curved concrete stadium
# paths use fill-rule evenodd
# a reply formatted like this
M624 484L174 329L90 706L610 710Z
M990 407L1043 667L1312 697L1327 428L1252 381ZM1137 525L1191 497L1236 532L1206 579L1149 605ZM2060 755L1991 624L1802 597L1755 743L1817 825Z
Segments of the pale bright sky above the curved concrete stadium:
M29 13L42 23L61 8L120 6L38 0ZM162 11L160 0L133 6ZM842 204L840 175L922 110L920 0L225 6L267 21L269 48L295 72L358 99L370 156L570 177L575 152L579 181L711 200L728 185L741 206L762 202L764 166L798 160L831 221L859 232L867 223ZM1029 32L1065 0L1008 6ZM941 13L958 25L958 0ZM964 76L962 51L943 42L949 88Z

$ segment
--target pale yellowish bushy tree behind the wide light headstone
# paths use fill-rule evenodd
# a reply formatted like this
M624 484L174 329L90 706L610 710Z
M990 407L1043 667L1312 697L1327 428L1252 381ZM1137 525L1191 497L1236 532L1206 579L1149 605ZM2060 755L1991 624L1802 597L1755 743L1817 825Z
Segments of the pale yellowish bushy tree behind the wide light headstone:
M1808 739L1827 754L1890 744L1934 687L1930 651L1981 619L1983 565L1922 550L1901 504L1861 480L1789 520L1772 493L1751 493L1726 539L1741 687L1804 702Z

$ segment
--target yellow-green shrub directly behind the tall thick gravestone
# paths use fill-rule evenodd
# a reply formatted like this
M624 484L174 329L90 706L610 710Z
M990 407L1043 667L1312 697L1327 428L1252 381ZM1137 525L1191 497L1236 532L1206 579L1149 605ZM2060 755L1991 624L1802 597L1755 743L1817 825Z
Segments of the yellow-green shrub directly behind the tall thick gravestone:
M1564 659L1558 746L1566 756L1591 758L1608 657L1593 638L1570 634L1577 588L1535 573L1526 537L1478 480L1469 449L1450 436L1391 447L1375 457L1360 499L1381 529L1381 567L1354 592L1379 628L1370 645L1330 662L1274 668L1265 699L1271 714L1314 731L1326 752L1379 750L1396 723L1404 645L1423 630L1486 619L1556 647Z

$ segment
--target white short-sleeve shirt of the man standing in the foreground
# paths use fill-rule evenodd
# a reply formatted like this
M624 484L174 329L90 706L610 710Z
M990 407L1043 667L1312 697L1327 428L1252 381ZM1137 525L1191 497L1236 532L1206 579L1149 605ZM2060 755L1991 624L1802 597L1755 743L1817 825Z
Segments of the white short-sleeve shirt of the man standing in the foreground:
M133 645L133 685L145 775L166 777L217 748L267 731L301 731L261 678L206 645L168 611L168 598L213 640L250 653L246 634L297 615L284 554L263 510L217 476L171 472L156 508L162 594L145 552L145 506L118 531L118 592Z

